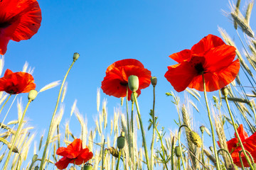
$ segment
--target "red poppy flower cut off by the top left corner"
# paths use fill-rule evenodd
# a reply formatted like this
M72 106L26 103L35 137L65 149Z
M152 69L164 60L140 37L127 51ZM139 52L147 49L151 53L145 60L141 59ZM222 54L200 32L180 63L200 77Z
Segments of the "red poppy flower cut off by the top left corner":
M0 55L9 40L28 40L41 25L41 9L36 0L0 1Z

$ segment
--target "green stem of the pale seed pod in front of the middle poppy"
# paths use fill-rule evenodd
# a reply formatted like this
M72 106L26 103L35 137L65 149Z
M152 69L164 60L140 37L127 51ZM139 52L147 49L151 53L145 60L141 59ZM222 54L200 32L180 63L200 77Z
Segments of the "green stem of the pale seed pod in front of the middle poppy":
M137 108L137 113L138 113L138 117L139 117L139 125L141 127L141 130L142 130L142 140L143 140L143 145L144 145L144 152L145 152L145 157L146 157L146 166L147 166L147 169L150 170L150 165L149 165L149 154L147 152L147 147L146 147L146 137L145 137L145 132L144 132L144 128L143 128L143 124L142 124L142 116L140 114L140 111L139 111L139 104L138 104L138 101L137 101L137 97L135 96L135 91L132 92L134 95L134 101L135 101L135 104L136 104L136 108Z

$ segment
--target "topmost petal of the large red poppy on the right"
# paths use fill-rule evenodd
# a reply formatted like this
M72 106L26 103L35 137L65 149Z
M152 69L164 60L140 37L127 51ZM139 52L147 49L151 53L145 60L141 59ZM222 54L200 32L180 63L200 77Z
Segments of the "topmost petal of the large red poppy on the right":
M224 45L225 42L221 40L221 38L218 38L215 35L207 35L202 40L200 40L196 45L193 45L191 48L192 54L201 55L202 53L210 50L212 47L218 47L220 45Z

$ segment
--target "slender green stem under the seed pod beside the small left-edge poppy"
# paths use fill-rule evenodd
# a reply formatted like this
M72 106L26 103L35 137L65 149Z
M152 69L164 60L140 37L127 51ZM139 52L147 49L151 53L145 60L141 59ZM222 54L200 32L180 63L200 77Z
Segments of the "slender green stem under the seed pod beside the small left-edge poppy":
M21 130L21 125L22 125L22 123L23 123L23 118L24 118L24 116L25 116L25 113L26 113L26 111L27 111L28 106L29 106L30 103L31 103L31 100L28 100L28 103L27 103L27 105L26 105L26 108L25 108L25 110L23 111L21 120L20 120L20 122L18 123L18 129L17 129L16 134L15 134L15 136L14 136L14 141L11 142L11 148L10 148L9 153L8 153L8 156L7 156L7 158L6 158L6 162L5 162L5 164L4 164L4 170L7 169L7 166L8 166L8 163L9 163L9 159L10 159L10 157L11 157L12 150L14 149L14 145L15 145L16 140L17 140L17 138L18 138L18 134L19 134L19 132L20 132L20 130Z

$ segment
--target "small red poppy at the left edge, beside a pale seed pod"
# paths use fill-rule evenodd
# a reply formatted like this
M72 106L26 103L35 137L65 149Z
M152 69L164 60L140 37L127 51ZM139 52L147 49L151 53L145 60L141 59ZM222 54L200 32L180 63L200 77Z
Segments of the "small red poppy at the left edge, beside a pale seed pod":
M0 91L6 91L9 94L28 93L36 89L34 79L31 74L26 72L11 72L6 69L4 77L0 79Z

